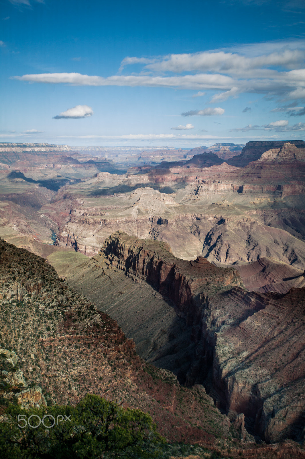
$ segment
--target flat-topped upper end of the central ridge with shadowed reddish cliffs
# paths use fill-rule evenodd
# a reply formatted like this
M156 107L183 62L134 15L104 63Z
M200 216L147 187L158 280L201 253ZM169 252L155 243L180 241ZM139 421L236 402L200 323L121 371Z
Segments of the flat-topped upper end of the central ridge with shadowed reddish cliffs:
M243 286L239 272L212 265L204 257L195 261L174 257L166 243L144 241L120 231L107 238L103 244L106 255L117 257L129 273L147 280L162 295L172 300L190 322L196 303L213 291Z

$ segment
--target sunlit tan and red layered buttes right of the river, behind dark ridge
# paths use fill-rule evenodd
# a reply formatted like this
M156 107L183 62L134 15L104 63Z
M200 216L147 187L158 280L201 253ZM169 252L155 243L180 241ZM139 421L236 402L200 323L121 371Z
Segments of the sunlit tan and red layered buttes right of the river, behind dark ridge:
M176 256L189 260L202 255L230 264L274 257L304 269L305 148L281 145L245 168L181 164L97 174L59 193L44 213L58 220L69 194L56 244L89 256L121 230L168 242Z

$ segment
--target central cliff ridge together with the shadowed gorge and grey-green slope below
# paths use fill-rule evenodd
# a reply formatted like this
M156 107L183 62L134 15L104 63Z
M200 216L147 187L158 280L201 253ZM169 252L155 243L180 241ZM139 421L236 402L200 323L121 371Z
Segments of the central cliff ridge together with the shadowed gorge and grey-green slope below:
M136 340L140 355L174 371L186 386L203 384L231 420L243 414L256 437L304 441L304 287L285 294L249 292L237 269L216 267L204 257L181 260L167 244L121 232L107 238L90 263L80 265L67 282L81 286L98 308L111 313ZM98 273L94 282L93 269ZM129 286L114 277L123 276L120 272L152 285L171 313L163 306L158 311L162 320L152 319L143 290L145 300L127 306Z

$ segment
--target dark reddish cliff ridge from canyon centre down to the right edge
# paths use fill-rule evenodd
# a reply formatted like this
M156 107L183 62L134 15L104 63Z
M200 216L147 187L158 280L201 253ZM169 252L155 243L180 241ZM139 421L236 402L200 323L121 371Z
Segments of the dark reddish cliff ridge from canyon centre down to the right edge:
M103 252L116 268L147 280L174 301L196 344L189 385L204 384L232 418L268 442L304 440L305 290L248 292L234 269L186 262L169 246L117 232Z

